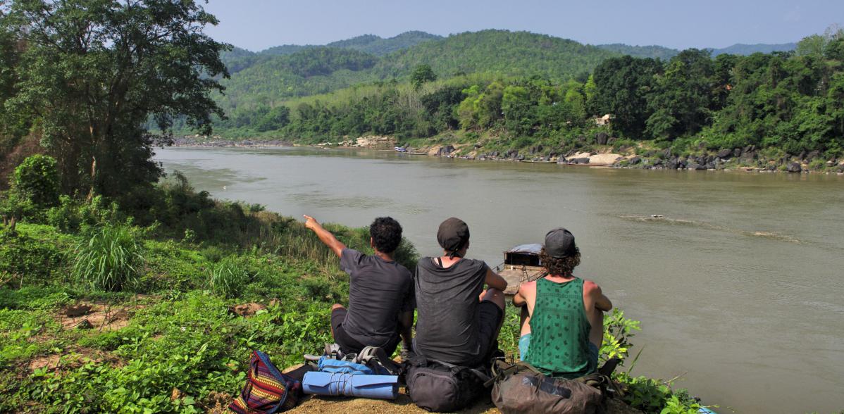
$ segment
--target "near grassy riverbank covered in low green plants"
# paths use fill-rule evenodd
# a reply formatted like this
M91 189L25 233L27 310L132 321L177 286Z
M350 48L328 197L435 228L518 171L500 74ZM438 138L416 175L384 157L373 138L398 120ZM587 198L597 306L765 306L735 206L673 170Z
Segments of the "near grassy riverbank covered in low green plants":
M153 191L161 202L146 209L65 198L0 228L0 411L219 411L252 349L287 366L330 341L329 307L348 299L347 277L298 221L184 181ZM365 229L329 229L369 250ZM412 268L413 246L398 260ZM604 356L626 356L637 323L606 324ZM508 355L517 336L510 309ZM644 411L695 406L661 382L618 378Z

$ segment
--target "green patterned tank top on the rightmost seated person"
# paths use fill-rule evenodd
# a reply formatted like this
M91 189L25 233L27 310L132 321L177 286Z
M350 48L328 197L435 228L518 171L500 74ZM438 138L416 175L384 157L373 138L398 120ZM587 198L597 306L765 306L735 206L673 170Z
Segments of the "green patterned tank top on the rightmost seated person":
M583 307L583 279L536 282L525 362L543 374L574 379L589 374L589 331Z

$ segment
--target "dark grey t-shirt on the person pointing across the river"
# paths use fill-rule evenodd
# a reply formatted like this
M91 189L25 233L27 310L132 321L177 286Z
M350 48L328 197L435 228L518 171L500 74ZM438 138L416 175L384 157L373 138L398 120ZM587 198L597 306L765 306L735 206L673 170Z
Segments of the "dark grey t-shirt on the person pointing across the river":
M349 273L349 312L343 329L362 345L383 347L398 336L398 314L413 309L412 275L395 261L344 249L340 268Z

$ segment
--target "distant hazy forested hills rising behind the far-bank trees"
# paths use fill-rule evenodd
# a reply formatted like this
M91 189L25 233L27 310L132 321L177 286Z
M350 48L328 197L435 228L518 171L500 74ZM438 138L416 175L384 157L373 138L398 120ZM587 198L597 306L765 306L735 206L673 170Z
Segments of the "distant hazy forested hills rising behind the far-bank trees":
M223 81L226 91L219 102L230 118L240 117L246 122L251 116L244 117L244 112L273 107L284 100L359 83L405 80L423 63L430 65L439 78L488 73L492 77L540 75L565 81L585 80L600 62L617 56L573 40L527 32L484 30L439 40L434 37L424 32L407 32L391 39L364 35L332 46L302 46L289 54L235 48L223 56L231 78ZM375 54L409 44L415 46L386 56Z

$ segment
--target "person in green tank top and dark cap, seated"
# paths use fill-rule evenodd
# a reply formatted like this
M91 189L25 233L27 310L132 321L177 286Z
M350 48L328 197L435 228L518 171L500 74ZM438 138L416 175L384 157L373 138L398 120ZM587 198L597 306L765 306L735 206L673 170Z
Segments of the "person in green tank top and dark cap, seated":
M592 374L603 341L603 312L613 304L595 282L571 274L580 264L580 250L568 230L549 231L539 259L548 275L522 283L513 298L523 306L522 361L554 377Z

